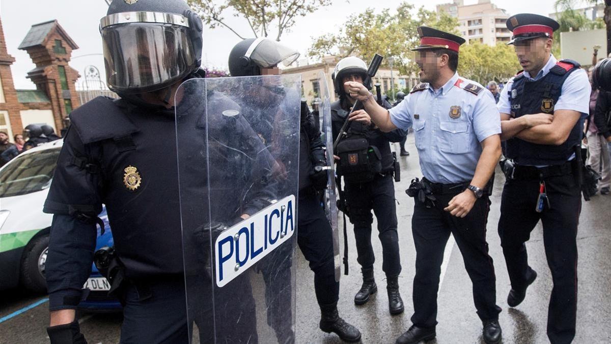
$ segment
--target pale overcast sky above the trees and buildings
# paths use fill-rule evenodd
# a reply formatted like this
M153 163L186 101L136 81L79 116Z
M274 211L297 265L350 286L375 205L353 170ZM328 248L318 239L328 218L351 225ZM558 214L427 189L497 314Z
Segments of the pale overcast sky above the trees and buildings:
M416 7L425 6L426 9L434 10L436 4L451 1L412 0L409 2ZM400 1L397 0L334 1L332 6L324 7L324 9L311 13L307 17L298 18L292 32L283 34L282 42L298 49L304 56L312 43L312 37L337 30L348 15L362 12L367 7L395 9L399 3ZM466 5L475 4L477 0L464 0L464 3ZM521 12L549 15L549 13L555 12L554 0L492 0L492 3L507 10L510 15ZM0 16L7 49L9 54L16 59L12 65L15 88L35 88L34 84L26 79L27 72L34 69L35 66L27 53L23 50L17 50L17 47L32 24L53 19L59 21L59 24L79 46L79 49L72 53L70 65L78 70L81 75L84 75L83 70L87 65L95 65L100 69L102 78L104 78L104 62L101 56L101 38L98 24L100 18L106 15L106 9L108 9L108 6L106 6L104 0L1 0ZM227 21L235 24L236 31L244 37L248 36L251 31L243 20L228 17L230 18ZM227 69L229 51L239 41L240 39L229 29L204 29L202 64L207 67Z

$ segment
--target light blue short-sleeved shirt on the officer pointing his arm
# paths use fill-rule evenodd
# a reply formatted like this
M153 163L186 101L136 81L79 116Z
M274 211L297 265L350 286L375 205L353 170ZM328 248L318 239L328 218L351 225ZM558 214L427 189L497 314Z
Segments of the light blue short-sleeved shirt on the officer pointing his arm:
M467 85L481 88L478 94ZM480 159L480 142L500 133L500 116L492 93L455 73L441 89L428 84L408 94L389 110L398 128L414 127L420 169L426 179L442 184L473 179Z

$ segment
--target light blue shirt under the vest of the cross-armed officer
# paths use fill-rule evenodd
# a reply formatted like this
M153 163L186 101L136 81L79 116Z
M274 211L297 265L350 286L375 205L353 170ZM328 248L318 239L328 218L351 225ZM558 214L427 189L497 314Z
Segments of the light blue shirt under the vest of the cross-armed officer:
M531 77L529 72L524 72L524 77L529 80L536 81L549 73L549 70L554 67L558 61L554 58L554 55L549 56L549 61L544 65L543 69L535 76ZM509 103L509 94L511 94L511 86L513 85L513 79L511 79L503 91L500 93L500 100L497 104L500 113L511 113L511 105ZM571 73L566 78L565 83L562 85L562 91L560 91L560 98L554 105L555 110L574 110L582 114L582 118L586 118L590 113L590 92L592 88L590 81L588 81L588 73L584 69L579 69Z

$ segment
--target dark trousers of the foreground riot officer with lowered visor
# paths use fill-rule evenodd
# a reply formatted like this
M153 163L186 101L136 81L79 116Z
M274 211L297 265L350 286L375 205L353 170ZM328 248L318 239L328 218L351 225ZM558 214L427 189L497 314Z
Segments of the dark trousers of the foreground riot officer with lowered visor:
M202 279L202 283L189 285L188 307L185 307L187 304L185 279L182 276L159 277L158 280L139 285L126 283L121 296L123 304L121 343L189 343L192 323L197 324L202 344L214 342L214 327L216 327L216 338L221 342L257 343L257 321L252 290L250 284L246 283L247 280L240 281L240 278L230 282L236 282L234 286L238 288L227 285L229 289L216 290L227 293L226 296L215 296L217 299L221 297L229 299L232 293L240 294L244 302L240 304L239 309L223 308L223 305L220 305L221 307L213 310L212 285L209 279ZM244 294L249 297L244 297ZM236 328L241 331L235 331Z

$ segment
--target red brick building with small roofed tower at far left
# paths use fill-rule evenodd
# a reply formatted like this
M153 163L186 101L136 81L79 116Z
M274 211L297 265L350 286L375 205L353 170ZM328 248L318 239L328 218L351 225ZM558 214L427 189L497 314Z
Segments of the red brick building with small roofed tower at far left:
M32 25L18 49L36 66L27 73L36 89L15 89L10 70L15 58L7 51L0 20L0 131L9 133L10 140L28 124L48 124L59 133L64 119L80 105L75 86L79 74L68 65L78 46L51 20Z

